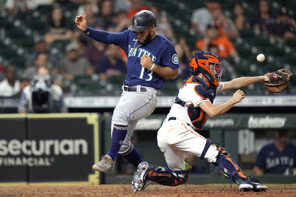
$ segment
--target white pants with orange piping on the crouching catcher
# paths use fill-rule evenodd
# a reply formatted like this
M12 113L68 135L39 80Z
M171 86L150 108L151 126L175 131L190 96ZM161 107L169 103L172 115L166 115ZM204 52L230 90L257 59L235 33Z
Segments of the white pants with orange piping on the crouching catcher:
M186 123L175 120L165 121L157 133L158 146L165 153L165 159L171 170L184 170L184 159L181 160L179 158L179 155L181 155L179 152L200 157L206 141L207 139L194 131ZM217 148L211 145L204 158L208 162L215 163L217 155Z

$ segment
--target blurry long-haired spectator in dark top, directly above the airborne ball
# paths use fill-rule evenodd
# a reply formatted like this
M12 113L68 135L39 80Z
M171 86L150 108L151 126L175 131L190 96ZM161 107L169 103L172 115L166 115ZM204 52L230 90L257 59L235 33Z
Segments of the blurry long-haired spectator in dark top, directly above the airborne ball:
M250 20L251 27L258 32L259 35L262 31L267 34L266 25L270 25L276 22L276 16L271 14L270 6L267 0L258 1L258 17Z

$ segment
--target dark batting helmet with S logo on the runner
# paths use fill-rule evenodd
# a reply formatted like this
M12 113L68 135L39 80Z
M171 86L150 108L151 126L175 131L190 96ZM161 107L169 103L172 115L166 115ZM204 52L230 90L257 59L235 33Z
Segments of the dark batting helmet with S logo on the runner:
M128 30L142 32L152 25L156 27L156 17L154 13L149 10L141 10L133 16L132 23L133 25L129 26Z

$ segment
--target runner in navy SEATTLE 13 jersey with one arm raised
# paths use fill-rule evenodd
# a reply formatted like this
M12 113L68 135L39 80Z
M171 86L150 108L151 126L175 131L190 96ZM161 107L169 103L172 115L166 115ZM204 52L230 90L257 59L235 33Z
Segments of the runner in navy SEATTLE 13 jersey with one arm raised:
M117 153L137 167L143 159L130 143L131 135L139 118L149 116L155 109L156 90L163 87L164 78L177 77L179 61L175 48L163 35L157 35L156 17L148 10L136 13L128 30L120 33L88 27L85 15L77 16L75 23L90 38L120 46L128 57L123 93L112 117L110 150L92 168L100 172L113 170Z

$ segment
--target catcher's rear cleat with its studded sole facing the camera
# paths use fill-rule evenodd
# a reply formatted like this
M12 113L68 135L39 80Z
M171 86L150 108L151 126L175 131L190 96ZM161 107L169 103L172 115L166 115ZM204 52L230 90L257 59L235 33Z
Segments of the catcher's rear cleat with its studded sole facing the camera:
M146 182L144 180L144 175L146 174L148 169L149 169L149 166L147 162L139 163L137 167L137 173L131 181L133 191L141 191L141 189L146 188L150 184L149 182L151 181Z

